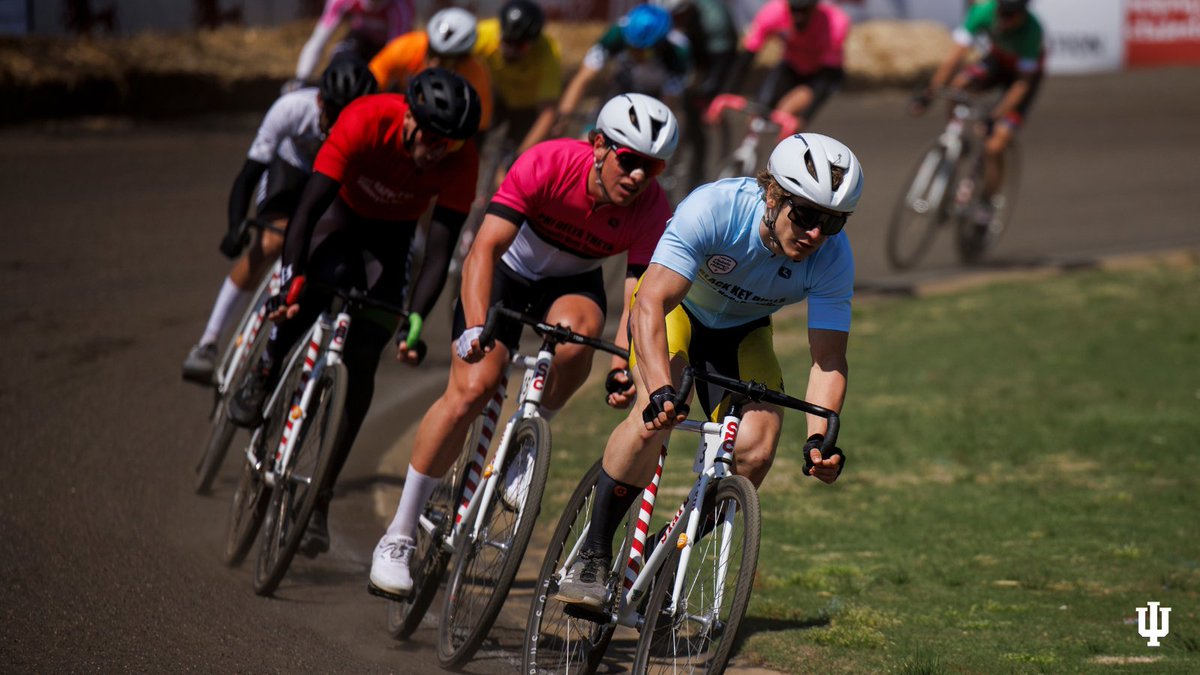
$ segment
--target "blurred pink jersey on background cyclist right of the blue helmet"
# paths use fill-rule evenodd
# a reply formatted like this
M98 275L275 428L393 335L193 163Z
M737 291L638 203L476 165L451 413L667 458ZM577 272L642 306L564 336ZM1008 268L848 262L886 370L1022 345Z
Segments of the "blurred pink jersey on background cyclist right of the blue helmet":
M798 74L811 74L824 67L840 68L850 23L850 14L840 7L820 2L809 24L797 31L787 0L769 0L746 29L745 48L757 53L768 37L778 35L784 38L784 60Z

